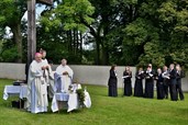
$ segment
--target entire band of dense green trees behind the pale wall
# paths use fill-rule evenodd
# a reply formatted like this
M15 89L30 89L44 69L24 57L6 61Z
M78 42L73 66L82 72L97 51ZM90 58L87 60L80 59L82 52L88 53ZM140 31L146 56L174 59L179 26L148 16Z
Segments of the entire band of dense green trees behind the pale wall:
M10 1L2 0L0 5ZM0 12L3 44L16 46L13 37L4 37L4 27L10 26L4 22L14 18L8 14L13 13L12 10L25 11L20 7L24 7L24 2L15 2ZM26 23L19 24L25 57ZM37 20L37 49L41 47L56 64L64 57L69 64L144 66L152 63L158 67L177 63L188 67L188 1L54 0L54 5L46 7ZM1 61L19 58L12 54L16 53L13 48L5 45L0 48L3 48Z

